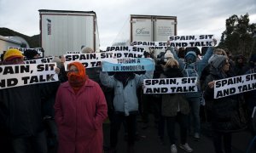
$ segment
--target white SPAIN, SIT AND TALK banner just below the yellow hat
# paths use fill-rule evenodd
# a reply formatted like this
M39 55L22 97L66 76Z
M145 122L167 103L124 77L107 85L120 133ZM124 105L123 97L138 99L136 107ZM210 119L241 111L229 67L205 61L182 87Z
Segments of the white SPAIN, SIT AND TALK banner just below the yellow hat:
M0 89L59 81L56 63L0 65Z

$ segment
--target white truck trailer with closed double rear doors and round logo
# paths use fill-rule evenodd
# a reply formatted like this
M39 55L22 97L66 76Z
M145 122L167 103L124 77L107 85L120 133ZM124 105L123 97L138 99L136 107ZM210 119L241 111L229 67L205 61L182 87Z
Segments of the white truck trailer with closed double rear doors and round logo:
M112 45L125 46L134 41L167 42L168 36L174 35L177 35L176 16L131 14Z

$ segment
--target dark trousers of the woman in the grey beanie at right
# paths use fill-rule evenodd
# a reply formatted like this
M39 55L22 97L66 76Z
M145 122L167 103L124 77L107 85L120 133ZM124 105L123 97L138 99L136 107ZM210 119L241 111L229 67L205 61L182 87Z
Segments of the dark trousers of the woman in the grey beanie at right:
M212 134L213 144L216 153L231 153L231 133L218 133Z

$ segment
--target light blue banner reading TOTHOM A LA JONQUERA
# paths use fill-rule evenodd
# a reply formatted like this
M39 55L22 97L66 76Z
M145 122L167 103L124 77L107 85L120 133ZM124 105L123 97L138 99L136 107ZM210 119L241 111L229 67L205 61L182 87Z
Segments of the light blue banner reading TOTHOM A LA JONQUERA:
M103 60L102 71L154 71L154 60L150 58Z

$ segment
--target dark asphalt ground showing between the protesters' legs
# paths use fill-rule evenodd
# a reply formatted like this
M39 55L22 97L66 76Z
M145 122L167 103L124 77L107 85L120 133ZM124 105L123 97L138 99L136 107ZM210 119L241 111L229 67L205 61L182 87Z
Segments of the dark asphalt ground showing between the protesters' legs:
M151 120L152 121L152 120ZM205 128L206 124L201 124L201 139L195 140L194 138L188 138L188 143L191 148L193 148L193 152L195 153L214 153L214 148L212 144L211 134ZM109 146L109 123L104 123L104 145ZM177 142L179 131L178 126L176 126L177 130ZM167 133L165 136L165 143L161 144L160 139L157 134L157 128L154 126L154 122L149 122L148 128L143 129L143 123L137 123L137 132L138 132L138 140L135 144L135 152L136 153L167 153L171 152L169 139L167 137ZM125 143L125 134L124 128L121 127L119 131L119 142L117 146L118 153L126 152L126 143ZM248 130L242 131L240 133L233 133L232 136L232 151L233 153L247 153L247 148L254 136L252 133L249 133ZM177 146L177 152L183 153L184 150L181 150ZM108 153L108 150L105 150L105 153ZM252 150L249 153L256 153L256 140L253 143Z

